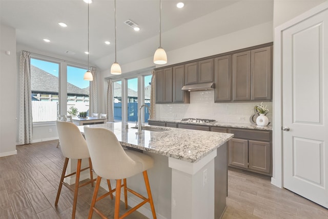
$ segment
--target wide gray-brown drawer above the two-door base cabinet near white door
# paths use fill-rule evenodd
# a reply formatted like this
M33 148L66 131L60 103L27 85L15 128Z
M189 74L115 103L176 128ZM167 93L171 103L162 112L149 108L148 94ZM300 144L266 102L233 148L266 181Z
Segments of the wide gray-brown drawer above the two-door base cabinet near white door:
M235 138L247 138L249 140L260 140L268 142L271 141L270 131L230 129L230 133L234 134Z

